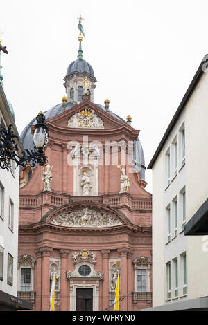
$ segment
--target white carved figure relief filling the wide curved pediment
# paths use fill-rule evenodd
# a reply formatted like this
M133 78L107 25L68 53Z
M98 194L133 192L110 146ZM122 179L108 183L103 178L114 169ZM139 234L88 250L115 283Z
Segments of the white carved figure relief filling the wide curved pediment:
M109 228L123 225L115 216L90 210L88 207L58 214L50 223L70 228Z

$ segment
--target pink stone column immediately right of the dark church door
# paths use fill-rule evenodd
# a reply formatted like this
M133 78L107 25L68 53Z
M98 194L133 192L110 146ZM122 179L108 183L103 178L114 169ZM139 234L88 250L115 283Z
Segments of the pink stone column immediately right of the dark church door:
M103 310L109 306L109 254L110 250L101 250L103 255Z

